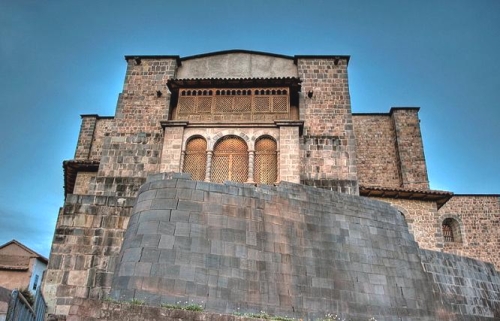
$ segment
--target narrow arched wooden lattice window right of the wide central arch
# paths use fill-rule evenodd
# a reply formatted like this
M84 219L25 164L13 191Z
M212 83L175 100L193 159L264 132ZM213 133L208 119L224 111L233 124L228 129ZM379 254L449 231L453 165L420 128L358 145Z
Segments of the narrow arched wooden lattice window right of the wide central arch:
M259 184L274 184L278 179L276 141L270 137L255 142L255 166L253 180Z

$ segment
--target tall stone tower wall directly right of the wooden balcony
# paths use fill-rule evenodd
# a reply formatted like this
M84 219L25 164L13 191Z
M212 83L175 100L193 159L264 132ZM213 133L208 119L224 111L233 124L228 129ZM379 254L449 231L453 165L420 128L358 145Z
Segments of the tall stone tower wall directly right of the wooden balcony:
M334 190L341 182L343 192L358 194L347 60L299 57L297 68L304 93L301 182Z

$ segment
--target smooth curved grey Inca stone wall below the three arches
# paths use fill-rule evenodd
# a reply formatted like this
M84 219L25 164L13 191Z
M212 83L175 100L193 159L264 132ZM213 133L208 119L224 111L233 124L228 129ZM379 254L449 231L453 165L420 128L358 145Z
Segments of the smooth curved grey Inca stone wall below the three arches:
M306 319L439 320L449 310L389 204L299 184L165 175L139 191L115 299Z

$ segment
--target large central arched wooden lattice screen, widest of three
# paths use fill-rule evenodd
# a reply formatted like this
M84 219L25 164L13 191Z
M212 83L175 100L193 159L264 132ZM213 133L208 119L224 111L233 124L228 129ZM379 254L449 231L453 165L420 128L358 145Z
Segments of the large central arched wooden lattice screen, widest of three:
M223 137L215 146L210 181L222 183L248 180L248 147L236 136Z

